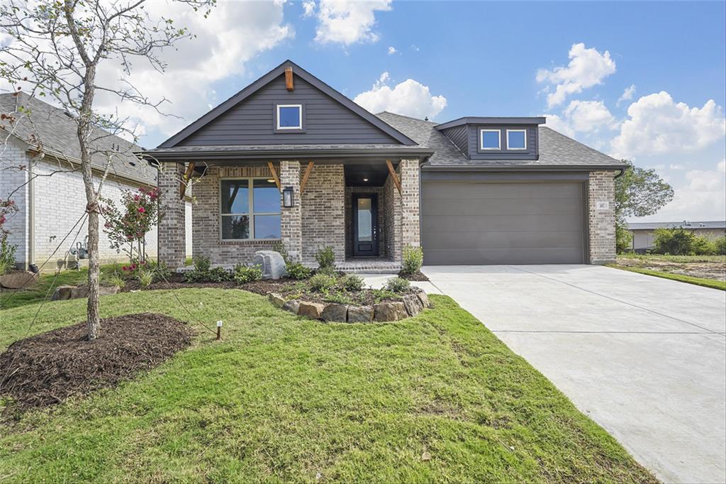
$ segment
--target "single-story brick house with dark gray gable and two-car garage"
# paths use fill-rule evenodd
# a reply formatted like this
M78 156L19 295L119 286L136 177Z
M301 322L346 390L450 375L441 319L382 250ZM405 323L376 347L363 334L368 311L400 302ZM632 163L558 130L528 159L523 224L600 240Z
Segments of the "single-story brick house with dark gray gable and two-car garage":
M193 251L214 264L279 242L305 264L332 246L343 269L396 270L407 245L429 265L613 260L624 165L543 124L373 115L287 60L142 153L160 170L159 258L184 264L188 174Z

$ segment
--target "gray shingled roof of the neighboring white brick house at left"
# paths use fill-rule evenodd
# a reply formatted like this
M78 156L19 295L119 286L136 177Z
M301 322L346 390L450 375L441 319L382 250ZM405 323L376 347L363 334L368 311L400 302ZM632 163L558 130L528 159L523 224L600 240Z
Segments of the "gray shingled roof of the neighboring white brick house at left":
M18 113L21 106L29 110L29 113ZM13 123L7 118L0 121L0 129L25 142L30 150L38 150L40 143L47 155L71 164L80 164L81 146L78 144L77 126L70 113L23 92L0 94L0 112L5 115L12 114L15 118ZM110 174L156 185L157 171L145 163L140 163L134 156L134 151L141 150L139 146L99 128L94 129L93 136L97 138L93 142L94 150L114 153ZM92 166L99 170L105 169L107 160L105 153L94 153L91 156Z

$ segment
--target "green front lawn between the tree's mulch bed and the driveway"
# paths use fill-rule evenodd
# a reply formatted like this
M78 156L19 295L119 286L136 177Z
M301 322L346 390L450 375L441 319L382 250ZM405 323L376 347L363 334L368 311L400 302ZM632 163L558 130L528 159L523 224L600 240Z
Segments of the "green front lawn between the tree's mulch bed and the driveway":
M324 324L246 291L176 294L193 318L171 291L102 297L103 317L163 312L195 343L0 427L0 481L655 480L447 297L399 323ZM31 334L82 320L85 304L46 304ZM0 350L36 309L0 312ZM195 323L217 319L223 342Z

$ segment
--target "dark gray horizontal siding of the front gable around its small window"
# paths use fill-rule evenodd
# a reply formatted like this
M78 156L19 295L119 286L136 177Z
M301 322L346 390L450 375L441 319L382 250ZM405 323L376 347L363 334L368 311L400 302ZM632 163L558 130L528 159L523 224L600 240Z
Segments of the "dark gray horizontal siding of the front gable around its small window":
M275 133L274 105L304 104L305 132ZM179 142L182 146L312 145L396 143L327 94L295 76L295 90L285 89L281 75L239 105Z

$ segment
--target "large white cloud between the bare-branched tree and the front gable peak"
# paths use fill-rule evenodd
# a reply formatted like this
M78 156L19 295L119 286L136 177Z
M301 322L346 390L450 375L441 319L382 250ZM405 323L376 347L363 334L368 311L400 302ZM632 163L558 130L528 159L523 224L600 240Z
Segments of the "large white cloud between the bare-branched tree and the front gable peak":
M294 36L293 27L284 22L282 8L280 1L219 2L205 19L188 7L150 2L146 9L152 17L173 17L195 38L162 51L166 73L138 62L131 76L126 76L117 64L105 62L99 68L99 84L118 85L118 79L127 78L150 100L168 99L160 109L182 119L130 102L119 103L118 98L103 92L97 92L97 109L103 113L118 110L132 122L140 120L139 127L146 132L158 129L165 136L174 134L219 103L213 83L245 73L247 62L259 52Z

